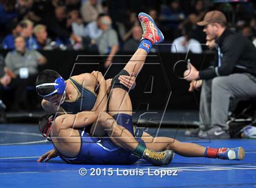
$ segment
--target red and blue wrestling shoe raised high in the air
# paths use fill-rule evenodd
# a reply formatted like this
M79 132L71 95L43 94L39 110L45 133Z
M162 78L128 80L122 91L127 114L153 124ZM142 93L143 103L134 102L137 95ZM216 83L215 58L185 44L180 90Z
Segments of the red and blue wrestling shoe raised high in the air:
M163 42L163 33L160 31L160 29L158 29L157 25L155 25L155 22L151 16L141 12L138 15L138 19L140 19L143 29L141 41L143 39L148 39L151 41L152 45Z

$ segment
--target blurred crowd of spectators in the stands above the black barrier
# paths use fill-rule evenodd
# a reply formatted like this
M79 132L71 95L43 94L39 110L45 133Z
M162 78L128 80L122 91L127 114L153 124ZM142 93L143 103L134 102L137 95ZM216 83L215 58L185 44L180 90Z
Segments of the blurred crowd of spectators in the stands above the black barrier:
M165 33L166 42L185 36L183 47L190 39L205 44L205 35L196 22L208 10L224 12L229 27L255 43L253 1L1 0L0 48L14 49L14 38L23 36L27 49L85 49L98 50L101 54L114 54L118 50L133 52L142 33L137 27L139 12L151 15Z

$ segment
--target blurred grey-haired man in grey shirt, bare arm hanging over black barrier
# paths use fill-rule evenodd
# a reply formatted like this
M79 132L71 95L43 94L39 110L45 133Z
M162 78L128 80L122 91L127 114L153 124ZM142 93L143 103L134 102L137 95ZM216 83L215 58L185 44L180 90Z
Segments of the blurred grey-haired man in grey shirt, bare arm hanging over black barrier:
M112 19L109 16L102 16L99 20L99 28L102 29L102 35L96 39L98 50L101 55L108 55L104 63L107 68L111 63L113 56L118 51L118 35L112 29Z

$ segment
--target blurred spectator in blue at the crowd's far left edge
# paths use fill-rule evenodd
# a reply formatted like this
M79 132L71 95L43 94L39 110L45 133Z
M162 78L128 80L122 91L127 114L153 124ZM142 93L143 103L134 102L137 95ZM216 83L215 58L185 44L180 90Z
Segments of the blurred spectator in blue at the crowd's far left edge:
M12 33L5 36L5 38L2 40L3 49L14 49L14 39L16 36L20 35L21 25L13 23L12 27L13 27Z

